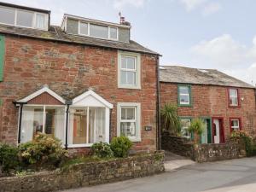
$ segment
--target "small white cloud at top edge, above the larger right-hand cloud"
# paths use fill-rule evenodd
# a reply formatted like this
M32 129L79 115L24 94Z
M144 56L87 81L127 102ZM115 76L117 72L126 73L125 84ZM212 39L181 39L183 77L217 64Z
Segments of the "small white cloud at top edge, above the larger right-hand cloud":
M202 15L211 15L218 12L222 7L220 3L211 3L209 0L179 0L187 11L200 9Z

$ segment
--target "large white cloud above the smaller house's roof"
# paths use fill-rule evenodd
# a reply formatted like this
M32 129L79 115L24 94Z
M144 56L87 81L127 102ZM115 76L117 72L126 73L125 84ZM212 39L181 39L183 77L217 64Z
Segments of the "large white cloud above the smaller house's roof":
M208 41L202 41L191 48L193 62L201 67L217 68L230 75L256 83L256 36L252 45L236 41L230 34L224 34Z

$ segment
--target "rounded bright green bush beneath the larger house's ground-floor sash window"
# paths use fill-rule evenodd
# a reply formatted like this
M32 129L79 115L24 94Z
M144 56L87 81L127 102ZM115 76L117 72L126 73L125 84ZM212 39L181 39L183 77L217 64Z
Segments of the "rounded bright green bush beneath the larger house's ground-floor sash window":
M113 137L110 143L110 148L115 157L127 157L132 143L128 137Z

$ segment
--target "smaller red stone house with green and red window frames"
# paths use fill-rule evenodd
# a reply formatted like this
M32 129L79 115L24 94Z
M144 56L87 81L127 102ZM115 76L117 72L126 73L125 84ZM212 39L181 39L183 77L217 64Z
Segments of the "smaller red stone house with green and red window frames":
M205 131L201 143L224 143L234 130L256 136L255 88L213 69L160 67L160 104L177 104L183 137L194 118Z

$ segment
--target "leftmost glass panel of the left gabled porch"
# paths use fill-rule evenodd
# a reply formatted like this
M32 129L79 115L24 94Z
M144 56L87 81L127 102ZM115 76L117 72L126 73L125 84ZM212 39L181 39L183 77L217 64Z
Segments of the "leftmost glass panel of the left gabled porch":
M43 107L24 106L22 111L20 143L32 141L38 131L43 131L43 123Z

